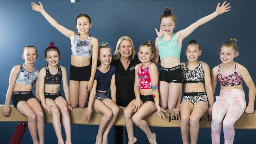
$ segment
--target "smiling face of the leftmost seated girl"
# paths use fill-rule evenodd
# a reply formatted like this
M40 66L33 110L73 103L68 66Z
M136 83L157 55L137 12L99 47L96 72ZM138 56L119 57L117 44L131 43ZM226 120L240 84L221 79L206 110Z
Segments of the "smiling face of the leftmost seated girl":
M25 63L35 63L37 59L37 51L34 47L25 48L22 58L25 59Z

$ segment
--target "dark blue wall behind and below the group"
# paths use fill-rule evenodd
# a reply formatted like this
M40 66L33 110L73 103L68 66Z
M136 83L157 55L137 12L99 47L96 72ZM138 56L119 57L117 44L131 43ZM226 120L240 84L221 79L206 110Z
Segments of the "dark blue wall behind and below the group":
M217 2L221 0L42 0L45 10L54 17L59 24L77 31L76 17L81 13L88 14L93 22L89 34L96 37L99 42L109 42L115 50L117 40L124 35L131 37L135 49L140 44L156 38L154 28L159 29L159 17L165 7L171 7L177 18L174 32L182 30L213 11ZM41 69L46 65L44 51L49 42L61 50L60 65L69 70L70 66L70 40L53 28L38 12L31 9L30 0L0 0L0 104L5 103L6 91L9 83L9 74L14 65L23 63L22 50L26 45L37 47L38 59L35 66ZM210 68L221 63L217 48L230 37L238 39L237 46L240 55L235 59L245 66L252 79L256 82L256 2L253 0L232 0L231 11L224 13L200 26L183 41L181 61L185 61L184 50L191 39L196 39L202 48L200 60L208 63ZM38 3L38 1L36 1ZM68 72L69 73L69 72ZM244 84L246 100L248 103L248 88ZM63 93L63 90L62 90ZM219 94L219 84L215 96ZM254 106L255 109L255 106ZM2 112L0 112L2 113ZM78 116L80 118L81 116ZM13 134L17 122L1 122L1 144L7 144ZM72 142L74 144L95 142L98 126L73 125ZM63 128L62 128L63 129ZM182 143L180 128L151 127L157 135L159 144ZM64 135L64 131L63 131ZM113 131L109 133L109 143L113 143ZM256 143L255 130L236 129L234 143ZM136 128L137 143L147 143L146 135ZM64 136L65 138L65 136ZM221 142L224 137L221 134ZM32 139L27 129L22 144L30 144ZM52 124L45 124L45 143L57 143ZM198 144L211 143L211 129L201 128L198 134Z

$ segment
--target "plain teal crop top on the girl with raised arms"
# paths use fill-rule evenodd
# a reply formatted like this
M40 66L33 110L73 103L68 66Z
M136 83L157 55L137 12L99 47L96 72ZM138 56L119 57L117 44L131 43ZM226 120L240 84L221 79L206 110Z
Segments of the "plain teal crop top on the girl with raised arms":
M163 41L163 36L159 38L157 43L160 59L163 57L180 58L181 47L178 44L175 33L169 41Z

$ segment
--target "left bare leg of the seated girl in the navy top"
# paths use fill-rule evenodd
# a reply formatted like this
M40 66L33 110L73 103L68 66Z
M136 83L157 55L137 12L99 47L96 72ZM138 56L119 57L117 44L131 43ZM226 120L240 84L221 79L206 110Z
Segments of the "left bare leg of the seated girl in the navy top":
M103 137L104 130L106 129L106 127L109 123L109 120L112 118L113 113L112 113L111 109L109 109L100 100L94 100L93 109L97 113L103 114L102 118L100 119L98 134L96 136L96 144L102 144L102 137Z

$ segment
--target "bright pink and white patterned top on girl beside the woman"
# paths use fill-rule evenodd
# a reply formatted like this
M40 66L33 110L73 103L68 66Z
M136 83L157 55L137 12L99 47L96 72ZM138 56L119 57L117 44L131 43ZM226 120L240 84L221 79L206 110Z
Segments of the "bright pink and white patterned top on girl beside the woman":
M151 79L148 72L148 68L152 63L150 63L147 68L143 69L142 64L138 69L138 76L139 76L139 88L140 89L151 89Z

